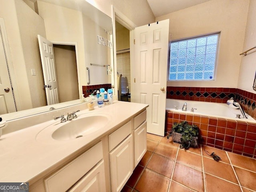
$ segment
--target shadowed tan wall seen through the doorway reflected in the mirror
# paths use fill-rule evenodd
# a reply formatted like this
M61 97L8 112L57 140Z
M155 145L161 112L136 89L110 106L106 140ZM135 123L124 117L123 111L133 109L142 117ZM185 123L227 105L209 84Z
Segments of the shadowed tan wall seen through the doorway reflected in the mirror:
M60 103L79 99L75 46L54 45Z

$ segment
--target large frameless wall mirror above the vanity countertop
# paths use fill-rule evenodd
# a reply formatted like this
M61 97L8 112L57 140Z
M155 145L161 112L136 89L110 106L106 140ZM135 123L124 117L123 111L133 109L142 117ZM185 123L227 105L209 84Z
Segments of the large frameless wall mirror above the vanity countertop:
M54 108L78 104L82 93L100 85L114 85L113 27L106 14L86 0L0 2L0 78L11 84L0 85L4 120L51 108L46 99L51 86L45 83L38 35L53 43L59 91ZM7 102L13 106L8 108Z

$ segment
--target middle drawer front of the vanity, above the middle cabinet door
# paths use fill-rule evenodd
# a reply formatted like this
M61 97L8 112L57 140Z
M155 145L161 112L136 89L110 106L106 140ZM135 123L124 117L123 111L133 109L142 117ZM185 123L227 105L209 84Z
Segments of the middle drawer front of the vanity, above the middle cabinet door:
M132 121L127 122L118 130L108 136L109 150L114 149L122 140L132 132Z

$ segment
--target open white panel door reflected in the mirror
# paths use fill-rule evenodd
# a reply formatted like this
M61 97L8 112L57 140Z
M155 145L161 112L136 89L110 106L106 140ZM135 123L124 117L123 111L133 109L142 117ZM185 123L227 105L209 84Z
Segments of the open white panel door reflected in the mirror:
M53 44L38 35L38 43L44 74L44 85L48 105L59 103L58 81L53 52Z

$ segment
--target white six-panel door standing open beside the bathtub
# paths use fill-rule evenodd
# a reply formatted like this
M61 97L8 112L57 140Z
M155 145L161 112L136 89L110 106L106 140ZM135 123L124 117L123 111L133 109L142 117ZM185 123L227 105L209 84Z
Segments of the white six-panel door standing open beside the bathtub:
M165 124L168 35L169 19L134 30L134 102L149 104L147 132L160 136Z

